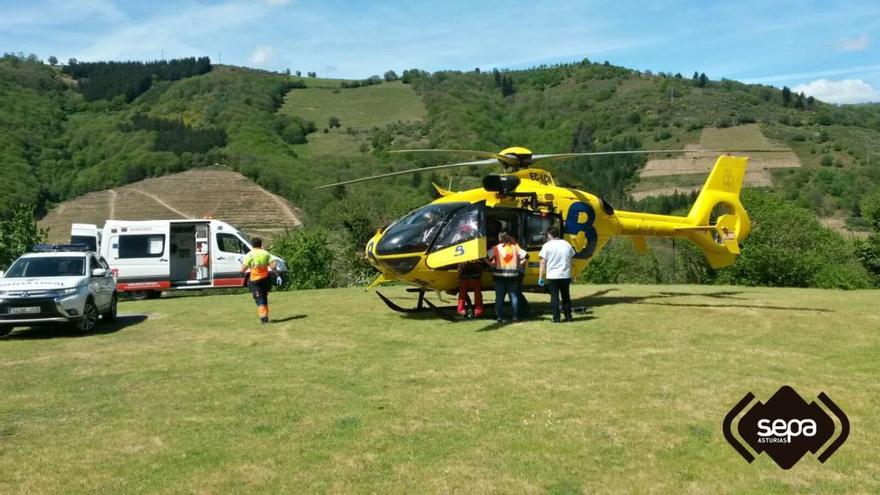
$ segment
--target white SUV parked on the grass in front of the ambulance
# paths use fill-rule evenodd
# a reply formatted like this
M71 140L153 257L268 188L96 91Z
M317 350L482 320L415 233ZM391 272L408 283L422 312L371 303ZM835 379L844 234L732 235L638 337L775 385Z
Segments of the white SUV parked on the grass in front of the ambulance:
M0 276L0 336L16 326L70 323L81 332L98 316L116 319L116 283L107 263L92 251L41 246Z

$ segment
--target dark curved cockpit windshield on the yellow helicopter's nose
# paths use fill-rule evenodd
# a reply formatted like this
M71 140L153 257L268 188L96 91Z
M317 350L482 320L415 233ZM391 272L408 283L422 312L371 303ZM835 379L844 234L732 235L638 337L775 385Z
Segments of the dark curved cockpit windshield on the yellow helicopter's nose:
M394 222L376 245L376 254L425 252L449 216L468 203L430 204Z

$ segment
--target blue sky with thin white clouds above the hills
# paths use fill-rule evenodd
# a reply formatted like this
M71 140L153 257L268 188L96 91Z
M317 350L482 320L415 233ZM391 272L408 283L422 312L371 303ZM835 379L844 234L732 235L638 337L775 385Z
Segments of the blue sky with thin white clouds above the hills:
M711 6L710 6L711 5ZM3 0L0 49L364 78L608 60L880 101L880 2Z

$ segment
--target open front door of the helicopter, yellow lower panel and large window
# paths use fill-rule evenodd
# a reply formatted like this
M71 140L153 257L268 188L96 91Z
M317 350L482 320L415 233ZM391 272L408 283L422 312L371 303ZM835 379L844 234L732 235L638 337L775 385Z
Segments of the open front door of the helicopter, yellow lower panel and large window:
M459 208L443 225L425 260L441 268L486 257L486 202Z

